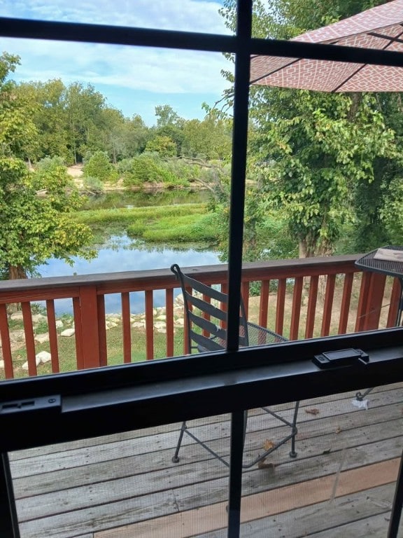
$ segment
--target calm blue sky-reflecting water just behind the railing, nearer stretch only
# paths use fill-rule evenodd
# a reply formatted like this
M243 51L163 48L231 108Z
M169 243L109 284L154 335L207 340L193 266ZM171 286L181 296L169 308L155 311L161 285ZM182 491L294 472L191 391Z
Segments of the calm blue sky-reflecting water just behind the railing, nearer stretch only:
M144 247L127 235L113 235L101 245L98 257L91 261L73 257L73 265L52 259L47 265L39 265L38 273L42 277L62 277L69 275L89 275L93 273L117 273L120 271L139 271L147 269L169 268L172 263L183 267L191 265L213 265L220 263L218 253L193 249L170 249L163 247ZM176 291L176 294L179 290ZM155 307L165 303L165 291L154 291ZM120 312L120 294L105 296L106 313ZM133 314L144 312L142 293L130 294L130 308ZM71 299L55 301L56 315L71 314Z

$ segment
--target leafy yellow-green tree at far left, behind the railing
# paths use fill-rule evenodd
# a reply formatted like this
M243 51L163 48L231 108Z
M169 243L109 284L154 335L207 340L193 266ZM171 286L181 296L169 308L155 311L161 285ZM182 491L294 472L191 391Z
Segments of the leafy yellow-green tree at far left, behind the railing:
M71 219L80 197L66 169L56 164L32 173L24 162L37 131L34 110L7 81L18 63L17 56L0 56L0 270L9 278L34 273L52 256L69 261L74 254L93 255L85 250L90 229Z

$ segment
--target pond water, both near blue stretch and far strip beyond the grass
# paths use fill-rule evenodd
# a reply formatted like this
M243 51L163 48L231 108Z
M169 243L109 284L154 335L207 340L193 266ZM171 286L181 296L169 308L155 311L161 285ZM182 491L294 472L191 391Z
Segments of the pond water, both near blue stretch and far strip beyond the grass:
M208 191L111 191L99 196L89 197L83 209L112 209L115 207L146 207L150 205L180 205L206 202ZM213 249L201 249L197 245L177 247L164 245L155 247L131 239L122 232L110 235L102 244L95 246L97 258L87 261L73 256L73 265L50 259L39 265L41 277L62 277L69 275L90 275L92 273L116 273L119 271L139 271L169 268L172 263L183 267L192 265L213 265L220 263L219 253ZM176 294L179 290L176 291ZM154 292L155 307L165 303L165 291ZM111 294L105 298L106 313L120 312L120 295ZM144 312L144 294L130 294L130 308L133 314ZM71 314L71 299L55 301L56 314Z

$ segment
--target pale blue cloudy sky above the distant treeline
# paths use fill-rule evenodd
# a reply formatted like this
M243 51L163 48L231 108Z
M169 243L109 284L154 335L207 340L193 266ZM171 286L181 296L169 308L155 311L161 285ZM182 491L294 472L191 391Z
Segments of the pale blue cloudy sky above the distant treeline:
M219 0L0 0L2 17L228 34L219 8ZM201 103L213 106L228 86L220 70L232 69L220 53L0 37L3 51L20 56L15 81L90 83L108 106L146 125L160 104L202 119Z

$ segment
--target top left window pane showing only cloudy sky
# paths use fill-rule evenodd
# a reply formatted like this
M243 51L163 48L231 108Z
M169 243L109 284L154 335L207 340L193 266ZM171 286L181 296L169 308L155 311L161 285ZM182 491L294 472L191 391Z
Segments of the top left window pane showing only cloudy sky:
M2 2L0 15L33 20L80 22L99 25L118 25L155 29L182 30L206 34L227 34L220 2L210 0L179 0L175 2L122 2L117 6L111 0L27 1L24 4L7 0Z

